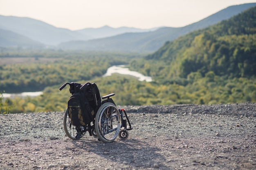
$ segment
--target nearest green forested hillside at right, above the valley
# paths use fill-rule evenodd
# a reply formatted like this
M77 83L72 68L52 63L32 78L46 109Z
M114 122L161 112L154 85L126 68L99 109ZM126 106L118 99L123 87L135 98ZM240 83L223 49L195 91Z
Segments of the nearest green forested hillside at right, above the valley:
M141 63L132 63L132 66L163 80L175 76L209 76L210 79L214 75L256 76L256 7L167 41Z

